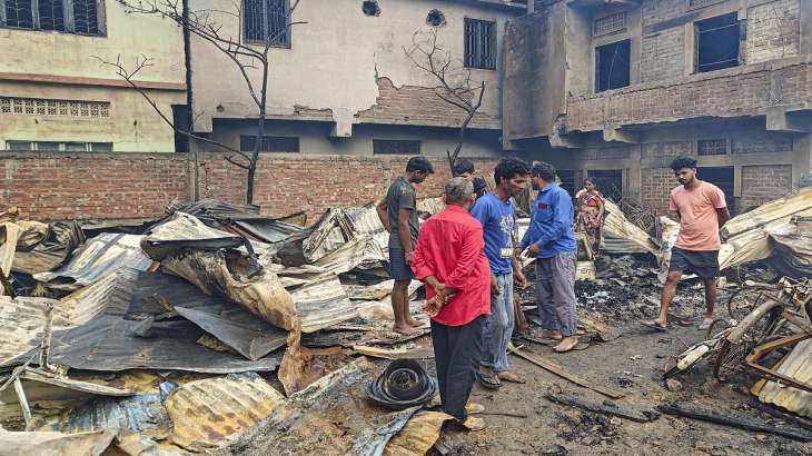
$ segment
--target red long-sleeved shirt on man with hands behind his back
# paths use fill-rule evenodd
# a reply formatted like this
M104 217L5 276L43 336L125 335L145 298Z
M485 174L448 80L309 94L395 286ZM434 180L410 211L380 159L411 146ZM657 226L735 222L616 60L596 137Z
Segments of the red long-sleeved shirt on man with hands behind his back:
M465 208L448 205L426 220L412 262L415 276L434 276L456 295L433 317L447 326L462 326L491 314L491 267L485 257L482 225ZM436 295L426 286L426 297Z

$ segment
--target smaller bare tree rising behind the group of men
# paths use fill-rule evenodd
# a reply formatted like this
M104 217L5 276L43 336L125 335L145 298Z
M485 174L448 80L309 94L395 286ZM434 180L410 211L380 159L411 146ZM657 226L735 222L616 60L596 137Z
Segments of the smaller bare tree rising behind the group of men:
M463 68L462 60L455 59L450 51L443 49L437 42L437 27L432 27L428 32L416 31L412 37L412 47L404 48L404 52L412 63L432 76L436 82L434 93L437 97L465 112L459 125L457 145L453 152L446 150L453 174L454 162L463 150L465 131L482 107L485 81L472 79L471 69Z

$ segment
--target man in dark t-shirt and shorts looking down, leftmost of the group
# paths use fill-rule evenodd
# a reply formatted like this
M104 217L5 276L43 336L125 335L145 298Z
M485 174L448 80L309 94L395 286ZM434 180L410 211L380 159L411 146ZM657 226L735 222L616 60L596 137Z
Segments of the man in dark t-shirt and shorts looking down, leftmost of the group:
M395 279L392 288L392 308L395 313L394 329L400 334L413 334L419 324L409 316L408 287L415 278L412 259L417 245L420 226L417 219L417 194L413 184L420 184L434 168L426 157L412 157L406 172L395 179L377 206L378 218L389 231L389 277Z

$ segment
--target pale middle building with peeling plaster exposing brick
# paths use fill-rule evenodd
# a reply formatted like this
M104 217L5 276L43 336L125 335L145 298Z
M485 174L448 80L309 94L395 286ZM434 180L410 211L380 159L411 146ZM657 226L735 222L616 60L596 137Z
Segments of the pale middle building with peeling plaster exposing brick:
M221 3L221 4L220 4ZM437 81L406 56L413 38L436 26L454 73L485 81L464 156L502 155L502 43L509 19L525 12L506 0L303 0L242 3L239 16L212 16L220 34L263 40L285 23L289 33L269 53L266 152L300 155L435 155L454 149L464 111L434 92ZM192 9L228 10L225 0L192 0ZM234 7L231 7L234 8ZM303 22L303 23L298 23ZM417 33L417 34L415 34ZM245 151L256 140L258 109L239 68L201 39L191 46L195 130ZM248 69L256 87L260 71ZM453 79L453 78L450 78ZM196 143L199 151L214 151ZM295 158L295 157L291 157Z

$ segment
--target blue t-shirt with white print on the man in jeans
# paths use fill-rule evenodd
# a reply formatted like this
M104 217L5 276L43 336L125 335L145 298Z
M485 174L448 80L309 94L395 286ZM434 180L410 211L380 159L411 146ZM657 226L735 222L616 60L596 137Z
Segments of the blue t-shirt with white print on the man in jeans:
M483 227L485 237L485 256L494 274L509 274L513 271L513 230L516 226L516 214L511 200L503 201L488 192L477 199L471 208Z

